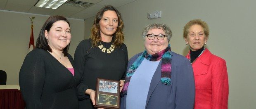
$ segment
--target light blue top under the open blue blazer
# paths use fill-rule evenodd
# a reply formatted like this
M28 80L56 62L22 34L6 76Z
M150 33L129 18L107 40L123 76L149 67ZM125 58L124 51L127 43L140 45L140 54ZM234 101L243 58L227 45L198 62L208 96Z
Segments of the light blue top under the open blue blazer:
M127 90L126 109L145 109L151 79L159 62L144 58L133 73Z

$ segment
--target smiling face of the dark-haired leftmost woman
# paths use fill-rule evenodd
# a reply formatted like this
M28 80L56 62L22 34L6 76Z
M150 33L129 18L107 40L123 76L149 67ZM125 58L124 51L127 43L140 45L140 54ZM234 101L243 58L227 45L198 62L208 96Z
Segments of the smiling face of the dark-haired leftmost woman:
M69 24L60 20L52 24L50 31L45 30L48 45L54 50L63 50L71 41Z

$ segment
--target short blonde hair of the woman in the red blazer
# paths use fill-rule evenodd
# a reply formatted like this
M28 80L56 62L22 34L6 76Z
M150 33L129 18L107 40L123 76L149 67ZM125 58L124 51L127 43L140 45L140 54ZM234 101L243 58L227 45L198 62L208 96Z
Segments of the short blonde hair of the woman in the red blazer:
M189 29L193 25L200 25L200 26L202 26L202 28L204 29L205 38L209 39L209 27L206 24L206 22L202 21L201 19L194 19L194 20L191 20L191 21L187 22L187 24L183 28L183 38L184 39L187 38L187 35L189 33Z

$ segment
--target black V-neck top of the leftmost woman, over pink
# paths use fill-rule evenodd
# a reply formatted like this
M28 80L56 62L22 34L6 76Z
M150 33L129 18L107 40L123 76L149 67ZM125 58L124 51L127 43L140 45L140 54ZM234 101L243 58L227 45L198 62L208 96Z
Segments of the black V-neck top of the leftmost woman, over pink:
M78 109L76 86L81 80L73 58L67 55L75 75L43 49L34 49L24 59L19 85L26 109Z

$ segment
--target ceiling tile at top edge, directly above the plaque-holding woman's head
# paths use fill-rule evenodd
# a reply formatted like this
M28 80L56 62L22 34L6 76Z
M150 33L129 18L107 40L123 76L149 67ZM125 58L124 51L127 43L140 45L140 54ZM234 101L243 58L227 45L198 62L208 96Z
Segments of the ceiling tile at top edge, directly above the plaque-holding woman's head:
M99 5L112 5L114 7L120 7L136 0L102 0L98 2Z

